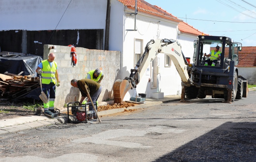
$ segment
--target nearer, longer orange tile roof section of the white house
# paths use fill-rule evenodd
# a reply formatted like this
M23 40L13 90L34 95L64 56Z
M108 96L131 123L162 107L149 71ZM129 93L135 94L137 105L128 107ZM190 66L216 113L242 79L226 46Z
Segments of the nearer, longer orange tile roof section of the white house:
M118 0L119 2L123 3L128 8L135 8L135 0ZM163 17L165 19L182 22L183 20L178 19L177 17L167 14L167 12L164 12L160 8L151 5L150 3L144 1L144 0L137 0L137 10L141 12L145 12L151 15L156 15L159 17Z

